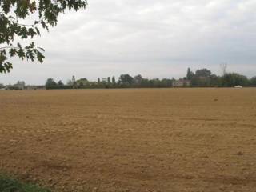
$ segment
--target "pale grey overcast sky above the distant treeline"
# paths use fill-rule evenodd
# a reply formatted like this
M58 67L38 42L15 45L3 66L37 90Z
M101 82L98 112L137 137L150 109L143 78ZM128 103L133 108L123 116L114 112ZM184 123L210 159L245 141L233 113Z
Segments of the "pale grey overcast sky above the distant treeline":
M43 84L75 75L96 80L128 73L178 78L209 68L256 75L255 0L89 0L43 33L43 64L14 60L0 82Z

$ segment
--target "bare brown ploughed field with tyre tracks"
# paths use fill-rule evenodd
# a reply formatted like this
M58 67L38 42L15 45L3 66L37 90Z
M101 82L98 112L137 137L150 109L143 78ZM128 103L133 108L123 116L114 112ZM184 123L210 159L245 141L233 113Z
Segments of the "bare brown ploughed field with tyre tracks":
M0 90L0 172L54 191L256 191L256 89Z

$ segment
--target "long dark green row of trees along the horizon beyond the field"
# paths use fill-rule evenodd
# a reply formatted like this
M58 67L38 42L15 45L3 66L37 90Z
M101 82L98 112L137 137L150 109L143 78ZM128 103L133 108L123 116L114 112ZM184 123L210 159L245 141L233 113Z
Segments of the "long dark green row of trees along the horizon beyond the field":
M174 82L190 82L192 87L231 87L231 86L256 86L256 77L247 78L245 75L237 73L223 73L222 76L212 74L210 70L200 69L193 72L187 70L186 77L174 78L143 78L138 74L134 77L130 74L121 74L118 80L115 77L98 78L97 82L91 82L87 78L68 80L66 84L62 81L55 82L53 78L46 81L46 89L84 89L84 88L125 88L125 87L170 87ZM186 84L187 85L187 84Z

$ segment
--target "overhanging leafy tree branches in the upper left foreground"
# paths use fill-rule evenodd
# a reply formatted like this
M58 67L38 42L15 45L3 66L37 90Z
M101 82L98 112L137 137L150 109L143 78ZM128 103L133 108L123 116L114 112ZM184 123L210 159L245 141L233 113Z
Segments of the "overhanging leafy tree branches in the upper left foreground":
M10 72L13 66L8 59L14 56L42 63L44 49L35 45L34 36L40 36L40 29L56 26L58 15L65 10L77 11L86 6L86 0L1 0L0 73ZM32 23L22 23L31 17L34 18ZM27 45L16 42L28 38L31 42Z

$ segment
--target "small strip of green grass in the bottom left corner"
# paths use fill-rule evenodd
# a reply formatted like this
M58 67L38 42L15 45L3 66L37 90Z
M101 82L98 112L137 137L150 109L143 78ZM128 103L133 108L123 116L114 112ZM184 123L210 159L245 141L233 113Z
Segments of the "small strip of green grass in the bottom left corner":
M0 174L0 191L1 192L50 192L40 186L20 182L17 179L10 178Z

